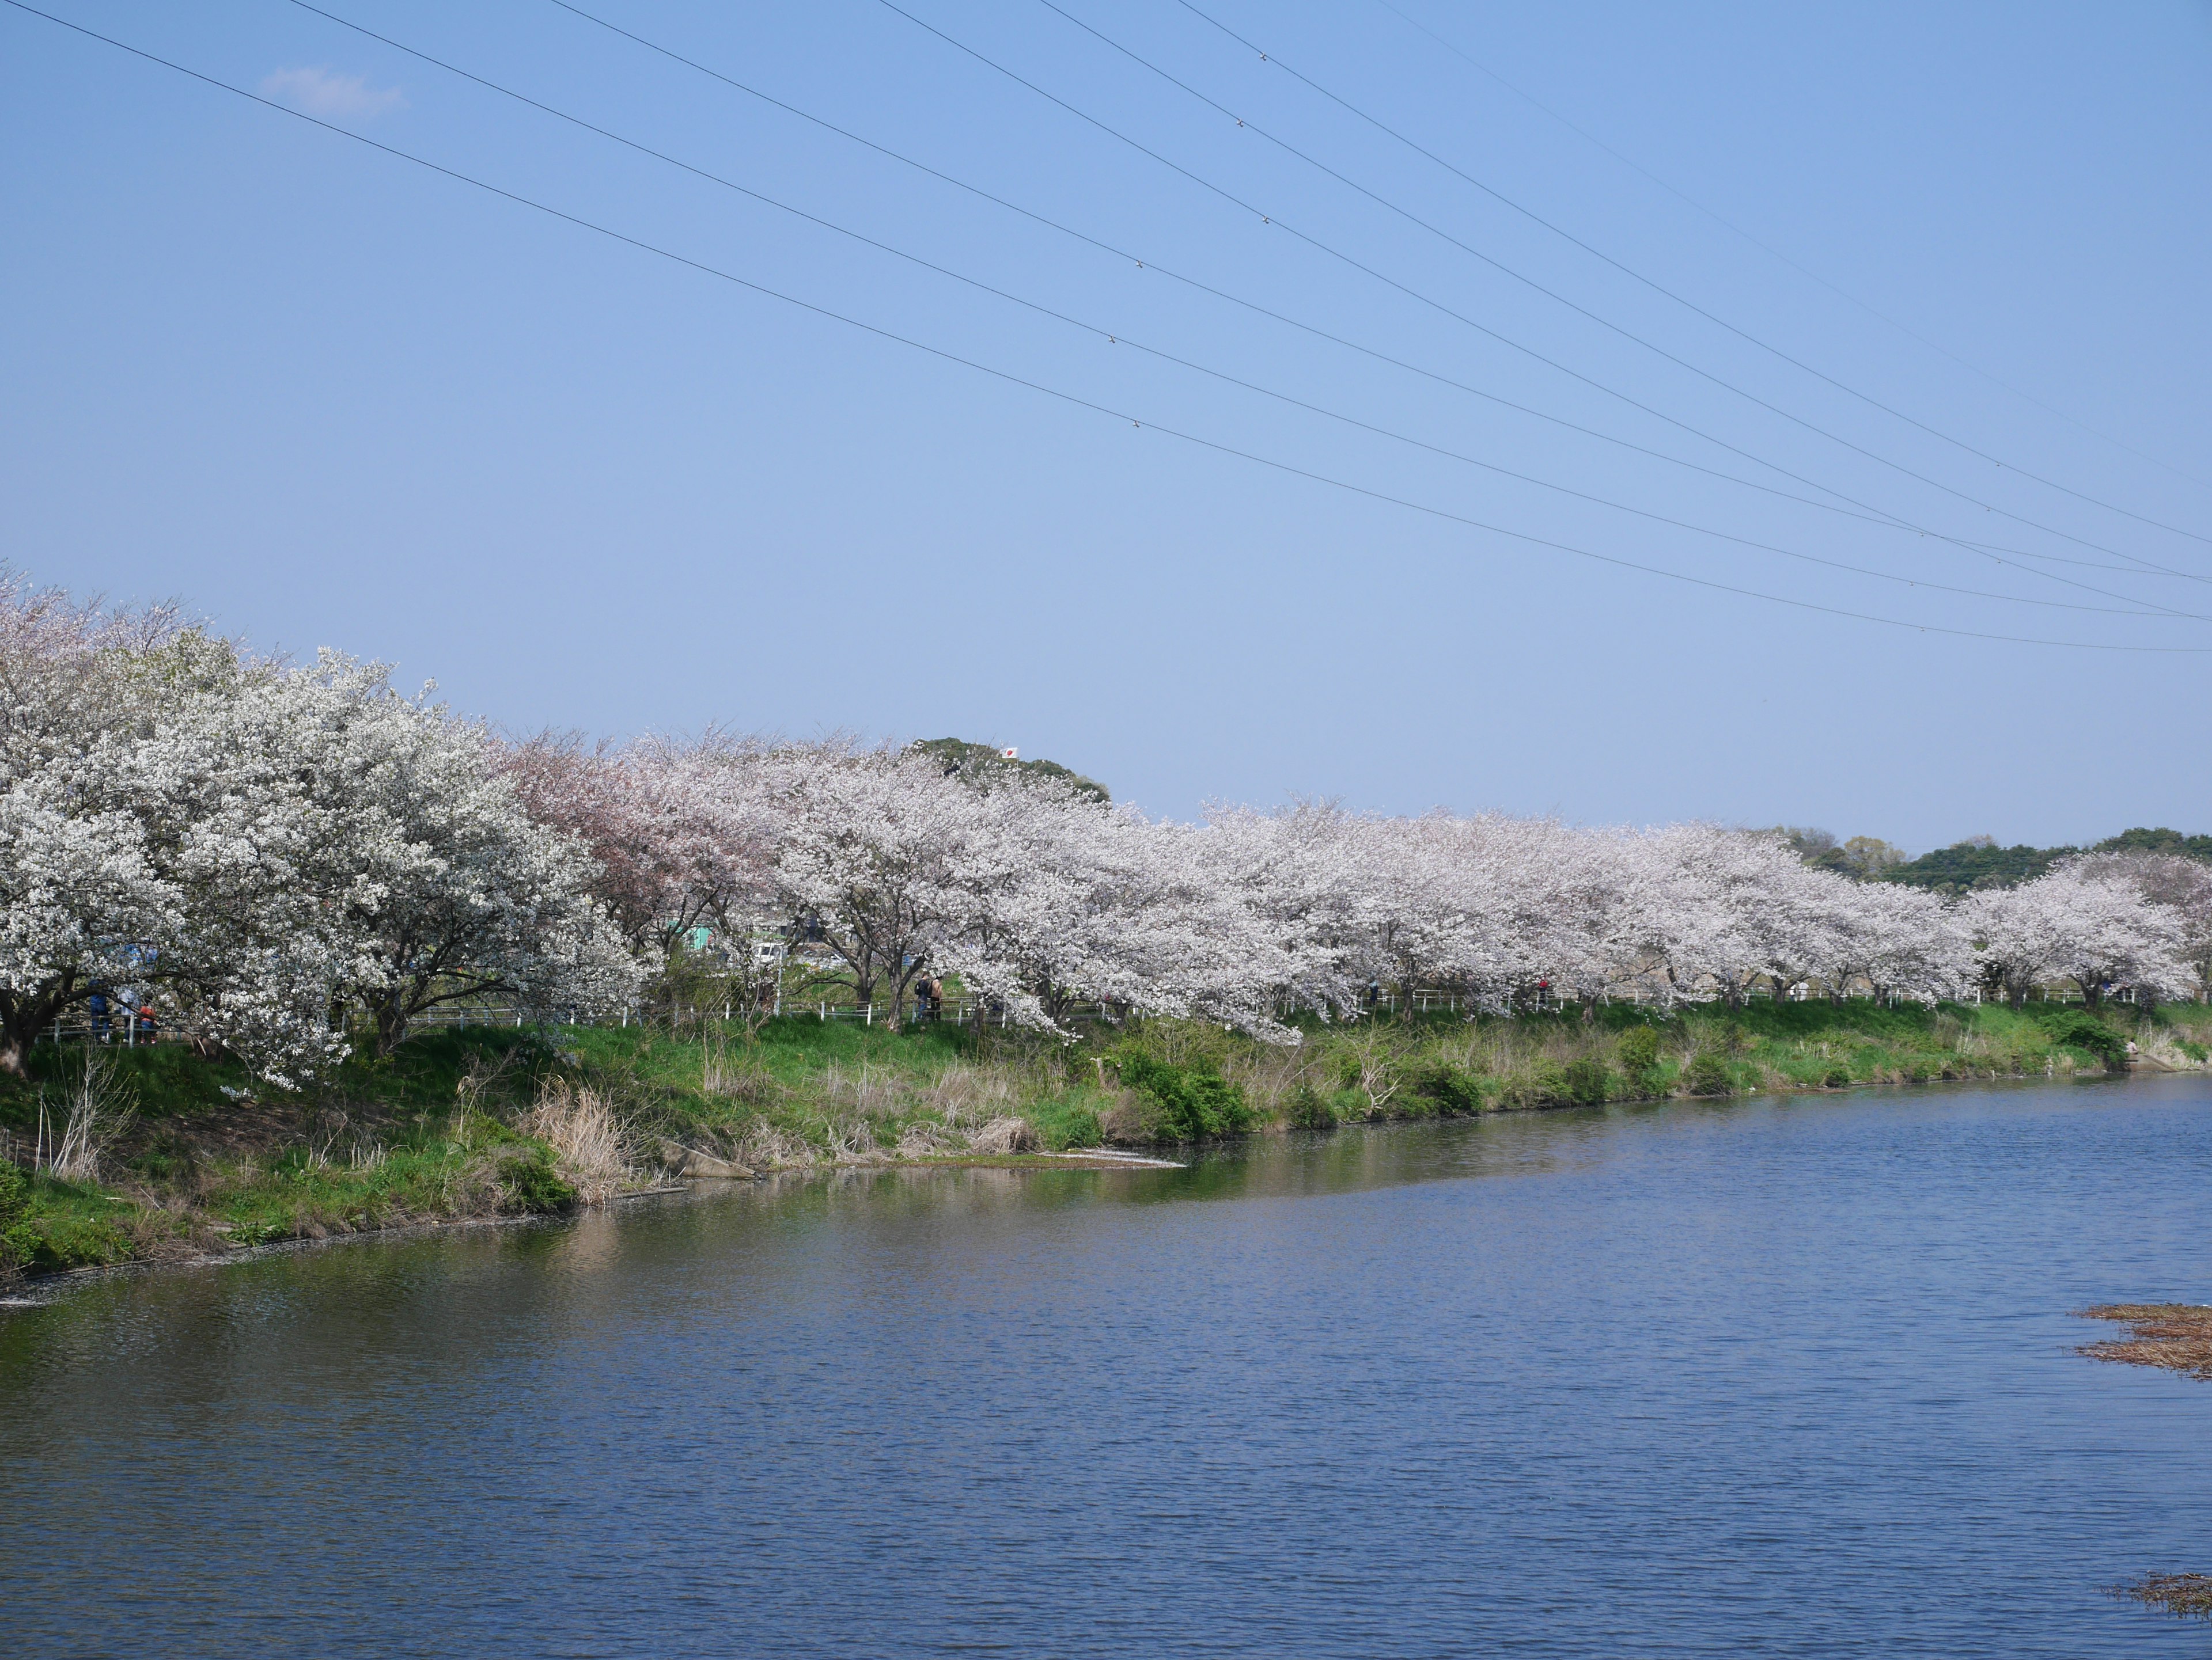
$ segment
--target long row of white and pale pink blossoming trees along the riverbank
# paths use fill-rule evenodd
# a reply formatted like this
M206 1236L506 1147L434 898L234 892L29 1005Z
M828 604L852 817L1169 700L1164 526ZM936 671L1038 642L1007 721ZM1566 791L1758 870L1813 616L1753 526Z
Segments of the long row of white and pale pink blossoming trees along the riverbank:
M818 939L896 1010L953 973L1287 1037L1371 988L1515 1008L2057 979L2203 995L2212 871L2086 858L1960 904L1712 824L1332 805L1148 820L1015 769L708 734L507 743L380 665L254 659L168 612L0 581L0 1065L95 990L301 1083L363 1032L500 997L630 1004L699 928Z

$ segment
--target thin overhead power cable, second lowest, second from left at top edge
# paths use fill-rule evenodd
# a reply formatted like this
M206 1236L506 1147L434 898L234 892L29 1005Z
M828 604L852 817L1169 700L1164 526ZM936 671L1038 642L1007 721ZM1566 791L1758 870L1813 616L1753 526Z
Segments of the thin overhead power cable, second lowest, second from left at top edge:
M695 166L690 161L684 161L681 157L668 155L666 150L657 150L650 144L639 144L637 139L624 137L622 133L615 133L615 130L604 128L604 126L599 126L595 122L588 122L582 115L571 115L568 111L555 108L553 104L546 104L542 99L531 97L529 93L518 93L515 88L502 86L500 82L493 82L493 80L489 80L484 75L478 75L478 73L469 71L469 69L462 69L460 64L453 64L453 62L449 62L445 57L436 57L436 55L431 55L427 51L409 46L407 42L394 40L392 35L378 33L376 29L369 29L367 24L358 24L358 22L352 22L349 18L341 18L334 11L325 11L323 7L312 4L312 0L290 0L290 4L299 7L301 11L310 11L316 18L323 18L327 22L334 22L341 29L349 29L356 35L363 35L365 40L374 40L374 42L378 42L383 46L389 46L392 51L407 53L409 57L414 57L418 62L425 62L425 64L429 64L434 69L440 69L440 71L445 71L449 75L456 75L456 77L460 77L465 82L471 82L476 86L482 86L484 91L498 93L500 97L509 97L515 104L524 104L524 106L529 106L533 111L540 111L542 115L551 115L553 119L566 122L566 124L571 124L571 126L575 126L575 128L580 128L584 133L593 133L593 135L597 135L602 139L608 139L613 144L619 144L619 146L628 148L628 150L635 150L635 153L646 155L646 157L650 157L655 161L661 161L661 164L672 166L672 168L677 168L681 172L688 172L688 175L692 175L697 179L706 179L708 183L721 186L723 190L732 190L732 192L737 192L741 197L748 197L750 201L759 201L761 206L768 206L768 208L774 208L779 212L792 214L794 219L801 219L801 221L805 221L810 225L816 225L821 230L830 230L830 232L834 232L838 237L847 237L849 241L856 241L856 243L860 243L865 248L874 248L876 252L883 252L883 254L889 254L894 259L907 261L909 265L916 265L918 270L927 270L927 272L933 272L933 274L945 276L949 281L956 281L956 283L967 285L967 287L973 287L973 290L978 290L982 294L991 294L993 298L1006 301L1009 305L1020 305L1026 312L1035 312L1037 316L1046 316L1046 318L1051 318L1055 323L1073 327L1073 329L1077 329L1077 332L1082 332L1082 334L1086 334L1086 336L1091 336L1095 340L1104 340L1108 345L1126 345L1133 351L1139 351L1144 356L1157 358L1161 363L1172 363L1172 365L1177 365L1181 369L1190 369L1192 374L1208 376L1208 378L1219 380L1223 385L1239 387L1243 391L1252 391L1252 393L1256 393L1261 398L1272 398L1272 400L1276 400L1281 405L1287 405L1287 407L1294 407L1294 409L1303 409L1303 411L1321 416L1325 420L1336 420L1336 422L1343 422L1347 427L1356 427L1358 431L1374 433L1378 438L1389 438L1389 440L1394 440L1398 444L1409 444L1409 446L1427 451L1431 455L1442 455L1447 460L1462 462L1467 466L1475 466L1475 469L1482 469L1486 473L1495 473L1500 477L1511 477L1511 480L1520 480L1524 484L1535 484L1537 488L1555 491L1559 495L1571 495L1571 497L1575 497L1579 502L1590 502L1593 506L1606 506L1606 508L1615 508L1619 513L1630 513L1635 517L1650 519L1652 524L1666 524L1666 526L1672 526L1677 530L1690 530L1694 535L1708 535L1708 537L1714 537L1719 542L1734 542L1736 546L1754 548L1759 553L1774 553L1774 555L1781 555L1785 559L1803 559L1803 561L1809 561L1809 564L1827 566L1832 570L1847 570L1851 575L1874 577L1878 581L1893 581L1893 584L1900 584L1905 588L1931 588L1936 592L1962 595L1962 597L1971 597L1971 599L1997 599L1997 601L2004 601L2004 603L2039 606L2039 608L2048 608L2048 610L2084 610L2084 612L2099 612L2099 614L2108 614L2108 617L2172 617L2172 619L2188 619L2188 621L2212 623L2212 614L2177 610L2172 606L2159 606L2157 601L2143 601L2143 599L2139 599L2135 595L2121 595L2121 592L2112 592L2108 588L2093 588L2088 584L2073 581L2068 577L2053 577L2051 572L2028 570L2024 566L2011 566L2011 568L2013 570L2022 570L2022 575L2042 577L2046 581L2059 581L2059 584L2064 584L2068 588L2081 588L2084 592L2093 592L2093 595L2099 595L2104 599L2124 599L2124 601L2130 601L2130 603L2128 603L2126 610L2119 610L2119 608L2112 608L2112 606L2081 606L2077 601L2066 601L2066 599L2031 599L2026 595L2004 595L2004 592L1993 592L1993 590L1986 590L1986 588L1958 588L1958 586L1942 584L1942 581L1931 581L1931 579L1924 579L1924 577L1902 577L1902 575L1891 572L1891 570L1876 570L1876 568L1869 568L1869 566L1854 566L1854 564L1847 564L1843 559L1829 559L1829 557L1803 553L1803 550L1796 550L1796 548L1783 548L1783 546L1776 546L1776 544L1770 544L1770 542L1759 542L1754 537L1741 537L1741 535L1734 535L1730 530L1714 530L1712 526L1694 524L1690 519L1674 519L1674 517L1668 517L1666 513L1652 513L1648 508L1639 508L1639 506L1632 506L1628 502L1617 502L1617 500L1606 497L1606 495L1597 495L1597 493L1590 493L1590 491L1577 491L1577 488L1573 488L1568 484L1557 484L1557 482L1540 477L1535 473L1522 473L1522 471L1511 469L1511 466L1500 466L1500 464L1486 462L1486 460L1482 460L1478 455L1467 455L1467 453L1449 449L1444 444L1433 444L1433 442L1429 442L1425 438L1400 433L1400 431L1394 431L1389 427L1383 427L1383 424L1376 424L1376 422L1369 422L1369 420L1360 420L1358 416L1347 416L1347 413L1340 413L1340 411L1329 409L1325 405L1310 402L1310 400L1298 398L1294 393L1276 391L1274 387L1263 387L1263 385L1259 385L1254 380L1245 380L1241 376L1228 374L1225 369L1214 369L1214 367L1197 363L1192 358L1183 358L1183 356L1179 356L1175 351L1166 351L1161 347L1146 345L1144 340L1137 340L1137 338L1133 338L1128 334L1121 334L1117 329L1108 329L1108 327L1102 327L1097 323L1088 323L1088 321L1084 321L1079 316L1071 316L1071 314L1060 312L1060 309L1055 309L1051 305L1044 305L1040 301L1031 301L1031 298L1026 298L1022 294L1015 294L1011 290L1004 290L1004 287L998 287L998 285L987 283L982 279L975 279L975 276L969 276L964 272L958 272L958 270L953 270L949 265L940 265L933 259L925 259L920 254L911 254L911 252L907 252L902 248L896 248L894 243L878 241L876 237L869 237L865 232L852 230L852 228L841 225L841 223L836 223L832 219L823 219L821 214L807 212L805 208L794 208L787 201L779 201L776 197L770 197L770 195L765 195L761 190L754 190L754 188L750 188L745 183L739 183L737 179L730 179L730 177L726 177L721 172L712 172L708 168L701 168L701 166ZM1995 555L1991 555L1991 557L1995 557ZM1997 564L2006 564L2008 566L2011 561L2000 559Z

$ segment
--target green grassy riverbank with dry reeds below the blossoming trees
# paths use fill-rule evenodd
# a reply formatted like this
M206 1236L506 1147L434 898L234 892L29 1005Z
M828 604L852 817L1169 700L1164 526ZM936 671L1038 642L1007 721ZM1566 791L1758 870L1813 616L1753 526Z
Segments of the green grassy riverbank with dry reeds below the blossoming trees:
M1467 1021L1307 1023L1276 1048L1194 1021L1079 1043L814 1019L706 1028L447 1030L356 1059L312 1096L261 1090L181 1046L102 1050L75 1180L0 1165L0 1273L157 1260L405 1222L564 1209L659 1172L1026 1158L1265 1130L1604 1101L2104 1070L2199 1068L2212 1010L1754 1004L1666 1021L1632 1008ZM82 1094L82 1052L0 1081L18 1154ZM712 1160L712 1163L710 1163Z

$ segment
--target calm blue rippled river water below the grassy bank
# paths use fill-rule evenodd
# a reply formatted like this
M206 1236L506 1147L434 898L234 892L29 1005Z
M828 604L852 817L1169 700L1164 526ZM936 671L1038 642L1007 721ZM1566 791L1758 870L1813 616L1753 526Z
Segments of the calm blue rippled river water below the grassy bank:
M883 1172L0 1313L38 1656L2203 1656L2212 1085Z

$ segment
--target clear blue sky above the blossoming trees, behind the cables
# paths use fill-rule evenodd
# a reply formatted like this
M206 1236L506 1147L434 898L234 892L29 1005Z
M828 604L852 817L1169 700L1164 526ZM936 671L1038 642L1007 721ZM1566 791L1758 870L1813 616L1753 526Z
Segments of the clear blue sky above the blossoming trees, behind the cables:
M1980 831L2212 829L2212 656L1785 608L1155 431L1816 606L2212 645L2212 621L2064 608L2212 617L2212 544L2143 524L2212 535L2212 488L2183 477L2212 480L2212 9L1391 0L1398 15L1378 0L1197 2L1270 60L1177 0L1060 0L1248 128L1037 0L900 0L1272 223L880 0L582 0L1146 270L551 0L327 9L1307 405L1814 559L2059 603L1719 542L1210 380L626 153L288 0L42 4L1144 424L796 312L0 7L7 557L117 599L184 597L257 645L392 659L403 681L436 676L456 705L513 729L960 734L1064 760L1168 813L1298 791L1584 822L1816 822L1913 849ZM1701 321L1283 64L1995 460ZM1159 265L1564 422L1851 497L1865 504L1854 513L1911 528L1515 413Z

